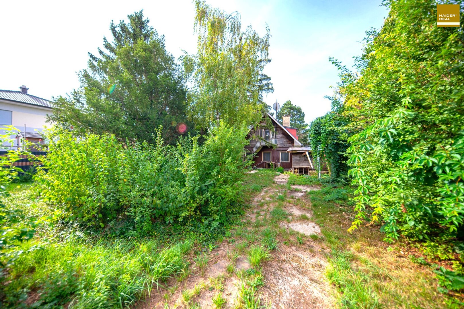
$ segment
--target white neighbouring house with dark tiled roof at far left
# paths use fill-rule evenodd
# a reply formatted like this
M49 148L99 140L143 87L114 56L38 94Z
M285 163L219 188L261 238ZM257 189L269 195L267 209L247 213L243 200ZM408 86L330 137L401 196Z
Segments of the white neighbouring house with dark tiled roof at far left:
M23 138L43 144L40 132L46 124L46 115L52 114L51 101L29 95L29 88L24 85L19 88L20 91L0 90L0 129L5 125L13 125L20 131L18 135L12 136L16 138L16 149L21 149Z

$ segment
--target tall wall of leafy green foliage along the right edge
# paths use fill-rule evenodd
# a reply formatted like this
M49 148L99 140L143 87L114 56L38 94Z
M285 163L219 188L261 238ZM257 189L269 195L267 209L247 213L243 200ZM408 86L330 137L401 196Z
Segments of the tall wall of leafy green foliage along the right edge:
M334 61L345 129L356 132L348 139L357 186L350 231L381 220L389 241L462 241L464 31L435 26L436 1L386 5L380 32L367 32L359 74Z

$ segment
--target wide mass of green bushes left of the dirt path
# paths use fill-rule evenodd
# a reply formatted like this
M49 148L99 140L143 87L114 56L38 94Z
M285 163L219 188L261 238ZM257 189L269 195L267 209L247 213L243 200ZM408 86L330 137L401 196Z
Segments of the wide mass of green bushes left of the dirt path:
M122 145L113 135L77 138L61 129L46 134L50 151L34 179L65 220L88 227L130 220L142 235L155 221L211 229L237 213L246 128L221 124L203 145L187 136L176 146L164 145L161 127L155 145Z

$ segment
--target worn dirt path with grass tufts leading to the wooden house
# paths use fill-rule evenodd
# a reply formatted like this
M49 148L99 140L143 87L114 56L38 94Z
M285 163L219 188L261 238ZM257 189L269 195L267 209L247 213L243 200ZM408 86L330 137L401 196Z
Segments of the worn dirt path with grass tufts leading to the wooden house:
M289 190L288 178L277 175L275 184L254 197L243 225L207 253L207 265L194 258L186 279L153 289L136 308L216 308L213 299L221 303L220 298L223 308L245 308L247 301L268 308L331 307L326 249L313 240L321 230L311 221L306 200L306 192L318 188ZM269 259L252 267L251 248L266 246Z

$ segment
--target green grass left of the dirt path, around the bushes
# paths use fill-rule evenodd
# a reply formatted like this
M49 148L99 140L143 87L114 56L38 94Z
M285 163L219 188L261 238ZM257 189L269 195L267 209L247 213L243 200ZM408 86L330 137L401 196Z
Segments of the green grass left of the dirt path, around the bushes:
M245 174L245 200L270 185L272 178L271 172L260 177ZM194 233L183 239L176 235L175 241L166 243L167 235L100 237L60 222L50 224L47 218L55 209L41 202L33 187L30 182L8 188L11 196L6 205L42 218L42 223L34 239L7 257L14 262L2 278L0 307L127 308L170 278L185 277L194 252L204 249Z

